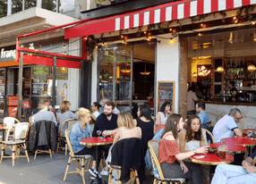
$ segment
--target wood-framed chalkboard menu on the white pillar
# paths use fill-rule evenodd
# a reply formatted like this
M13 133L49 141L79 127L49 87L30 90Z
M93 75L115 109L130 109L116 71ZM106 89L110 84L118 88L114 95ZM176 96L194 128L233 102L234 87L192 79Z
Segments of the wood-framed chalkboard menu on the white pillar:
M165 102L171 104L171 112L175 113L175 81L158 81L158 111Z

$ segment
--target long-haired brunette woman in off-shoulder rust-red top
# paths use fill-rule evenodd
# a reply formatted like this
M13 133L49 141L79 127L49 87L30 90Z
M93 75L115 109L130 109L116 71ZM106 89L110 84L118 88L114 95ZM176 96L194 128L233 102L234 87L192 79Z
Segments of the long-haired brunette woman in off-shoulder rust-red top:
M183 118L180 114L172 114L167 118L166 128L159 145L158 160L165 178L184 178L187 184L201 184L200 166L196 163L183 163L183 159L196 153L206 154L208 147L202 146L192 151L181 153L177 143L178 131L183 130Z

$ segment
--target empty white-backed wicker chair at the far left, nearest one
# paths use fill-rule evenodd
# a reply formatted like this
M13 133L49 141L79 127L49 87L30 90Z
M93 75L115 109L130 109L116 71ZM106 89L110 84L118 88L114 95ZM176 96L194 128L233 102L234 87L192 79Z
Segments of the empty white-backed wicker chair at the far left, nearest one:
M3 161L3 158L12 158L13 166L14 166L14 160L20 157L26 157L28 160L28 163L30 163L30 157L28 155L28 150L26 146L26 138L28 136L29 128L30 128L29 122L17 123L9 127L9 129L7 130L5 140L2 141L1 163ZM10 133L12 131L13 131L13 138L10 139ZM12 152L13 152L12 156L4 155L4 149L7 147L10 147L12 149ZM21 147L25 150L25 155L20 155Z

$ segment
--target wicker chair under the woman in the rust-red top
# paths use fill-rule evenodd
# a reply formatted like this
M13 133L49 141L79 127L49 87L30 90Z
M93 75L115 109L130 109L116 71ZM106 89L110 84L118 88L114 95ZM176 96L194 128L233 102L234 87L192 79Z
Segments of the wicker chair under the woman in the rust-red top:
M151 157L151 162L153 166L153 170L156 171L158 169L159 176L155 175L154 184L157 183L175 183L175 184L182 184L185 182L185 179L166 179L164 177L163 171L161 169L160 163L158 162L158 154L159 154L159 144L160 141L158 140L149 140L149 153Z

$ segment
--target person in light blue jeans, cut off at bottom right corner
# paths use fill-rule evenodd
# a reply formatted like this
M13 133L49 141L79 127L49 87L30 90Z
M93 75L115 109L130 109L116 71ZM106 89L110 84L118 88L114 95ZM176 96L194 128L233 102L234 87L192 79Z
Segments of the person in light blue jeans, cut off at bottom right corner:
M252 166L252 161L255 156L256 151L243 160L242 166L219 164L211 184L256 183L256 168Z

